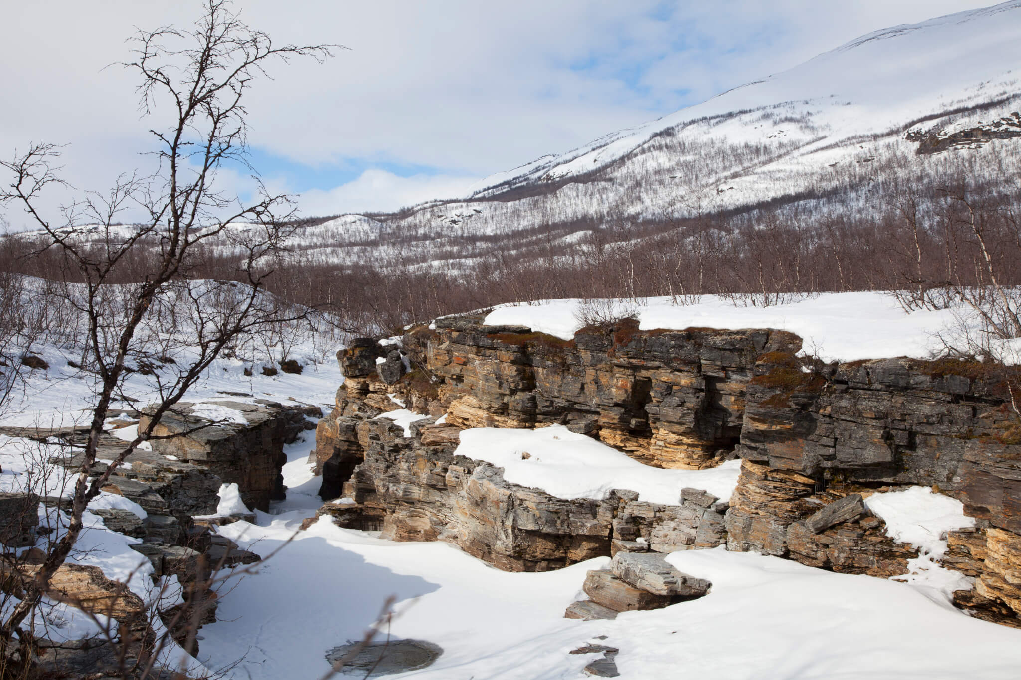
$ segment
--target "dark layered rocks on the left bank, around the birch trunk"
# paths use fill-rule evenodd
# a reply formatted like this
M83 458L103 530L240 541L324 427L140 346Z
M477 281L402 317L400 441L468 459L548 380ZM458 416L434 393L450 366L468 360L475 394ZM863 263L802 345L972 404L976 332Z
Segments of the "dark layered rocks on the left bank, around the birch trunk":
M155 430L157 436L176 436L153 440L154 451L135 450L102 488L137 503L146 517L121 509L92 511L107 529L140 539L130 546L152 564L154 578L176 577L173 582L182 588L181 599L155 614L175 639L193 653L197 651L196 625L215 621L216 593L210 580L214 572L260 559L210 533L212 524L238 518L200 516L215 513L217 491L225 482L237 482L242 499L263 510L269 509L272 498L283 498L283 446L293 441L301 430L310 429L306 416L321 415L317 407L298 403L252 402L220 401L211 413L192 404L178 405ZM241 415L232 422L220 422L216 409L231 409ZM130 425L135 418L141 418L143 427L146 424L144 413L120 416L116 426ZM88 435L86 429L4 428L3 433L43 442L61 439L68 444L67 455L49 462L72 471L81 469L82 455L75 452L81 450ZM125 441L104 432L97 459L115 459L124 447ZM99 475L106 468L105 463L98 462L90 473ZM0 494L0 540L5 545L32 545L36 541L40 503L64 508L67 499ZM31 582L44 557L36 547L17 555L5 553L0 559L3 589L16 595ZM116 620L121 626L123 644L100 638L56 644L37 638L35 644L41 650L38 666L43 671L56 674L87 669L90 673L108 672L113 677L118 675L119 655L138 656L146 645L155 643L151 605L143 603L124 583L106 578L99 567L62 565L52 580L49 596ZM176 593L167 593L166 599L177 599Z

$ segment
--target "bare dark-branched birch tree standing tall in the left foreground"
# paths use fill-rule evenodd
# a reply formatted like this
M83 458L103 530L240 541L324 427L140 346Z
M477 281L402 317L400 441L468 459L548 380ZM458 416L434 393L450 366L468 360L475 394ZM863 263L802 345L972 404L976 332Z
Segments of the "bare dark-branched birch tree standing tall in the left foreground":
M82 531L87 506L125 459L152 437L163 414L225 348L301 315L264 291L273 273L268 263L293 229L290 197L271 194L256 179L255 198L243 203L221 191L216 177L229 166L248 167L243 100L265 74L264 67L293 57L322 61L332 56L334 46L275 45L266 34L246 25L225 0L207 0L203 15L189 30L144 31L132 41L132 58L121 65L139 75L142 112L157 121L150 129L157 161L152 174L121 175L109 191L85 193L51 216L40 199L50 188L66 187L54 166L60 148L39 144L0 162L10 174L0 203L20 205L45 234L45 250L57 252L65 267L59 294L86 320L86 369L96 384L67 530L48 548L20 603L0 622L0 655L15 637L26 643L21 624L49 593L53 575ZM162 125L158 121L164 113L168 124ZM126 227L121 220L128 211L141 212L144 219ZM85 227L92 232L88 242L80 238ZM213 240L228 242L240 254L233 281L191 279L204 246ZM123 280L129 263L137 269L133 282L113 283ZM167 327L172 316L176 325ZM124 396L126 375L153 358L148 343L156 336L172 338L169 351L177 352L177 359L165 362L164 368L172 368L152 378L158 400L149 424L125 443L105 472L91 478L111 404ZM159 352L167 351L164 343Z

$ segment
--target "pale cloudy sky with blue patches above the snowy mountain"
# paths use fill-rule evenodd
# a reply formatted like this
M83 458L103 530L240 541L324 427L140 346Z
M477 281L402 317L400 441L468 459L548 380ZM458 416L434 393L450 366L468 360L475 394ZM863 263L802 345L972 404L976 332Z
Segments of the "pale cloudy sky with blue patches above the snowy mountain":
M987 0L244 0L276 43L334 44L325 63L270 68L247 98L251 165L305 215L464 196L483 177L563 153L866 33ZM138 30L187 27L202 3L47 0L0 22L0 158L66 145L74 192L103 191L153 149L127 59ZM272 79L272 80L271 80ZM8 177L4 175L4 182ZM243 172L222 173L247 198ZM77 192L77 194L75 193ZM8 228L26 217L7 210Z

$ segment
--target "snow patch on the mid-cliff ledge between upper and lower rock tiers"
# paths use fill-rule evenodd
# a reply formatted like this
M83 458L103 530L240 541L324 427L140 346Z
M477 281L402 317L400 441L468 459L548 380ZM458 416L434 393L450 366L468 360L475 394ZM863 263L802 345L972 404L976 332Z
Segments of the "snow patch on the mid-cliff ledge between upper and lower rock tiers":
M508 482L560 499L603 499L611 489L626 488L641 501L677 505L681 489L690 486L729 501L740 473L740 461L710 470L653 468L563 425L461 430L454 455L492 463L503 468Z

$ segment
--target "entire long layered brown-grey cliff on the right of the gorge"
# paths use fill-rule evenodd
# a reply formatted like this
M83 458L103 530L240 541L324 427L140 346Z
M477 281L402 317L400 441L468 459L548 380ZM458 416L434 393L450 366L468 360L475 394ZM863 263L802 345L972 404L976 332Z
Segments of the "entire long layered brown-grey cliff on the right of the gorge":
M411 329L403 356L363 342L339 357L346 382L321 421L323 513L398 539L456 542L504 569L549 569L611 552L753 550L810 566L888 577L917 552L861 503L931 486L977 520L953 532L946 566L977 577L960 604L1021 613L1021 446L1005 374L941 360L822 365L775 330L638 330L625 322L565 342L479 317ZM406 366L404 364L406 361ZM410 370L407 370L407 369ZM412 435L368 420L431 414ZM445 424L433 421L446 414ZM658 467L742 459L729 507L653 506L626 489L567 502L454 458L466 427L562 424ZM353 501L353 503L352 503Z

